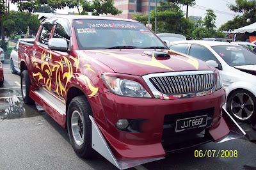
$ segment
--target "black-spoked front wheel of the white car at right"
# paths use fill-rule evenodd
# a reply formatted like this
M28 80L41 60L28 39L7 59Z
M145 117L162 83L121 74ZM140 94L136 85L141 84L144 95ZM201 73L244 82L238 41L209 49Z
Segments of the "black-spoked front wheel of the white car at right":
M251 123L256 118L256 98L246 89L237 89L228 97L228 112L237 121Z

